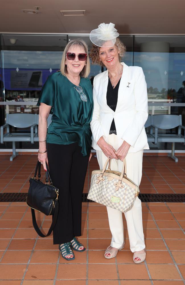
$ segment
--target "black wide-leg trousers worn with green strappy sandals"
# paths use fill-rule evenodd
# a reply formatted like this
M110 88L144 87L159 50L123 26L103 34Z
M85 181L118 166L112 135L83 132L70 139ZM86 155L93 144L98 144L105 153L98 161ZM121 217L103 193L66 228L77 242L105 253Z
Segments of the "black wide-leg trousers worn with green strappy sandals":
M47 150L52 183L59 189L53 243L67 243L81 236L82 193L89 155L83 156L77 143L47 143Z

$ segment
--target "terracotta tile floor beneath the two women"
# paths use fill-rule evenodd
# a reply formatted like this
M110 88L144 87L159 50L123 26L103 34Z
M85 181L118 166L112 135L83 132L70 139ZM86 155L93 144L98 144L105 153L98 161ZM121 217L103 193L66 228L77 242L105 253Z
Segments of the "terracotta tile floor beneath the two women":
M35 155L19 155L13 162L0 156L0 192L27 192L33 176ZM84 192L90 175L97 169L96 158L88 167ZM44 171L42 172L44 174ZM185 158L175 163L166 156L144 156L141 193L185 193ZM126 245L116 258L105 259L110 244L106 207L83 203L83 235L87 251L75 252L75 260L64 260L53 245L52 236L35 233L26 203L0 203L0 285L183 285L185 284L184 203L142 203L147 258L134 264ZM47 231L51 217L37 213Z

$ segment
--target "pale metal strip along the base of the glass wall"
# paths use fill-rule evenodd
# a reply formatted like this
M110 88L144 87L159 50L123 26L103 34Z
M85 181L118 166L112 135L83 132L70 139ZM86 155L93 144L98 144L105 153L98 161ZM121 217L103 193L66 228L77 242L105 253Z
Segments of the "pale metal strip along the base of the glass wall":
M0 152L12 152L12 148L1 148ZM16 148L16 152L38 152L38 149L22 149L22 148ZM96 152L96 150L92 149L91 152ZM172 150L166 150L166 149L145 149L144 152L148 153L170 153ZM175 150L175 153L185 153L185 150Z

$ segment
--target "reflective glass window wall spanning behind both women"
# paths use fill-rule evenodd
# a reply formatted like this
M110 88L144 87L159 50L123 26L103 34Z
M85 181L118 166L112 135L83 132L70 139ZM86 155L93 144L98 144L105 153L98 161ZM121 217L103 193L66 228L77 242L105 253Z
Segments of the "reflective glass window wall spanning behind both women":
M90 51L92 42L87 34L0 35L0 101L28 102L26 105L0 105L0 125L5 122L5 113L38 113L34 104L40 90L48 76L59 70L63 50L67 42L75 38L85 40ZM120 35L119 38L127 50L122 61L128 66L143 68L149 114L182 114L182 124L185 125L184 106L163 105L168 102L185 104L185 36ZM91 82L104 70L105 67L91 64ZM153 102L158 105L152 106ZM162 143L150 144L150 147L164 149L166 146ZM176 144L176 148L184 149L184 145Z

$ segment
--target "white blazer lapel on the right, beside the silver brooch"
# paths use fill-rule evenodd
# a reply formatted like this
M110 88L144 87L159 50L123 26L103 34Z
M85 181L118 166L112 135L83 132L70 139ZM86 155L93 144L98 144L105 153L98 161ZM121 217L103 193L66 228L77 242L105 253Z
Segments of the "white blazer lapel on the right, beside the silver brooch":
M128 85L128 76L129 76L128 65L126 65L124 62L121 62L121 64L123 65L123 73L122 73L122 77L120 80L120 86L119 86L119 90L118 90L118 102L117 102L117 106L116 106L116 111L118 110L120 103L124 98L126 87Z

